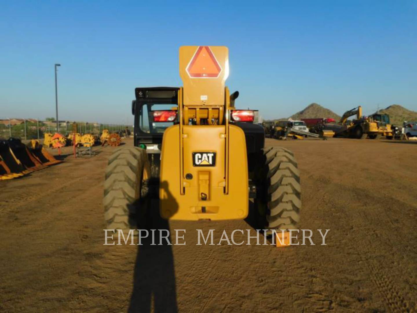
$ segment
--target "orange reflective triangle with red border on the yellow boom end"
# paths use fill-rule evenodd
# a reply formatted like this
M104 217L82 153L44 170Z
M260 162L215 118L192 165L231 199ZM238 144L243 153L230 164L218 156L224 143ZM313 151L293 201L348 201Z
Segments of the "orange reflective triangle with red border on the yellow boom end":
M210 47L203 45L194 53L186 71L192 78L217 78L221 67Z

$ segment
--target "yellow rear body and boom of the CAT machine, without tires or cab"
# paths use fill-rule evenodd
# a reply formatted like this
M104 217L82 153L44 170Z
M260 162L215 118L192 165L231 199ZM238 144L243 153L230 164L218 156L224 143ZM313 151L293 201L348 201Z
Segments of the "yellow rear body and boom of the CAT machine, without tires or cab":
M160 214L175 220L243 219L249 190L246 141L229 124L234 109L225 81L226 47L180 48L179 123L161 149Z

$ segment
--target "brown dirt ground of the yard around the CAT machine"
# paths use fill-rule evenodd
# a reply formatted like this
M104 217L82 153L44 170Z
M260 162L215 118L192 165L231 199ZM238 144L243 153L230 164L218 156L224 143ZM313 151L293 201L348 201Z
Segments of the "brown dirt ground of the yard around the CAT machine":
M294 151L300 226L314 230L316 245L196 245L196 229L216 229L217 243L223 230L250 229L244 220L158 225L186 229L186 245L103 245L108 146L0 182L0 311L416 310L417 143L266 145ZM317 229L329 229L327 245Z

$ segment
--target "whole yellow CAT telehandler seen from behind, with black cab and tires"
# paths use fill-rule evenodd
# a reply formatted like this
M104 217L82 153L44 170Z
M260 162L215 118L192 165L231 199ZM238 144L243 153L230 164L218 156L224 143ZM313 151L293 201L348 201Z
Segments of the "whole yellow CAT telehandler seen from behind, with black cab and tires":
M143 211L158 210L144 207L149 198L168 220L244 219L251 203L260 228L297 229L297 162L265 147L254 112L236 109L228 48L182 46L179 73L183 87L135 89L134 147L117 149L106 168L108 229L134 229Z

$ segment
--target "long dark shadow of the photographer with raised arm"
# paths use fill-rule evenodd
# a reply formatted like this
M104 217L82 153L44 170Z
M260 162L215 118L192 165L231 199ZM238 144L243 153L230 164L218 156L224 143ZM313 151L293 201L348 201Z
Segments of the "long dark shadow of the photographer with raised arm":
M148 192L136 203L136 207L144 212L138 216L138 229L147 229L149 235L141 240L142 245L138 245L128 312L151 312L152 302L154 312L178 311L172 246L165 238L160 242L158 231L169 230L168 220L159 215L159 201L168 201L171 212L178 210L178 202L169 193L168 182L162 182L161 187L166 190L167 199L156 199L152 197L152 192ZM151 230L155 230L155 245L152 245ZM142 233L145 235L145 232ZM165 231L163 236L166 236ZM168 239L172 243L171 236Z

